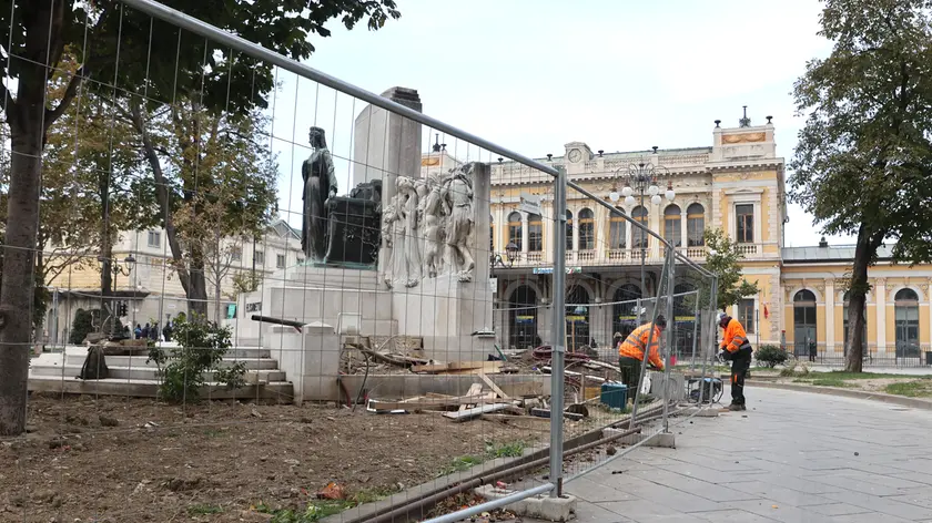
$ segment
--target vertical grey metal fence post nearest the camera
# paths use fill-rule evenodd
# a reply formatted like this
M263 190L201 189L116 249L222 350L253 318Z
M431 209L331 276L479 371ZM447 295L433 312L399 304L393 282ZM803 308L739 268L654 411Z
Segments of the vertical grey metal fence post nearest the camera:
M564 356L566 352L566 170L554 178L554 310L550 352L550 483L551 498L563 495Z

